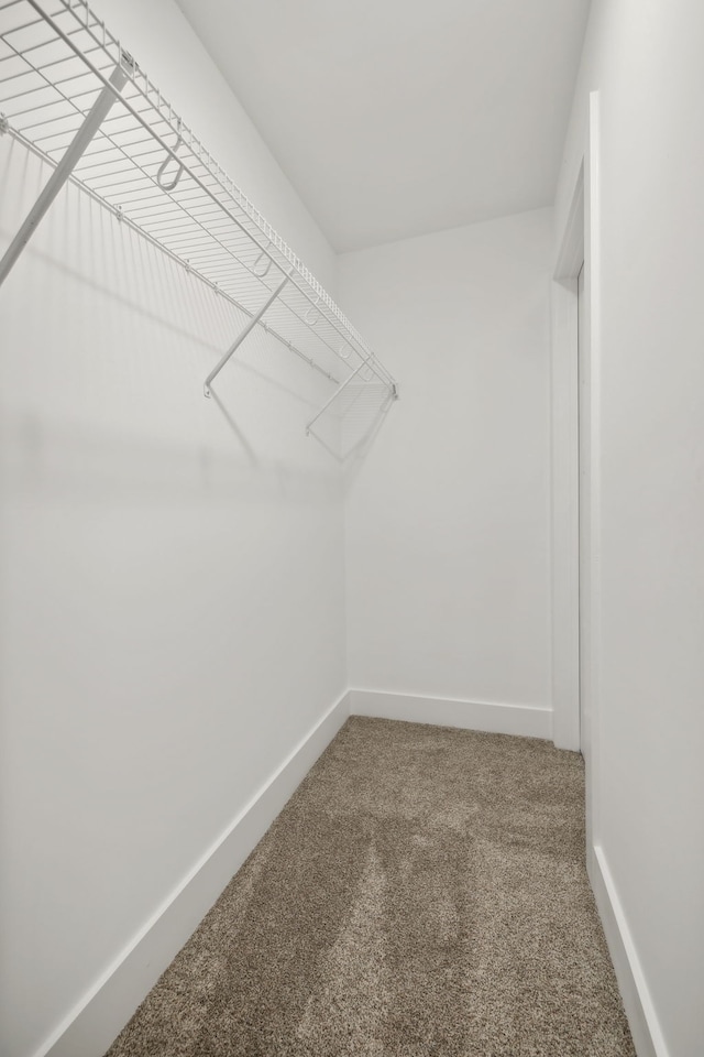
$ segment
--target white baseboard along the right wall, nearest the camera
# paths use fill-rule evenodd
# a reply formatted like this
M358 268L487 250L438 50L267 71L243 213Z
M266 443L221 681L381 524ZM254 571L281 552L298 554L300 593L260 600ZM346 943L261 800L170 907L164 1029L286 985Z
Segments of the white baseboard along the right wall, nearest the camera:
M604 849L593 849L590 879L638 1057L670 1057Z

